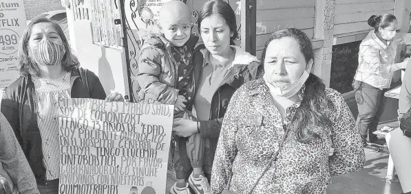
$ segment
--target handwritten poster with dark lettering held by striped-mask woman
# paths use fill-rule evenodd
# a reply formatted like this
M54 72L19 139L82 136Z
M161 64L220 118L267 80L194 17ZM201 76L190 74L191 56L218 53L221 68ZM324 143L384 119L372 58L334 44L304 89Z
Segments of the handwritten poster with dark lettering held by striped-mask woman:
M59 99L59 193L164 193L173 106Z

